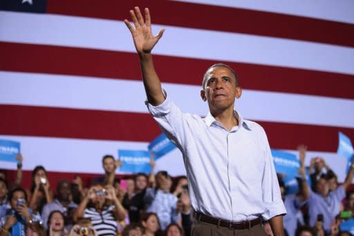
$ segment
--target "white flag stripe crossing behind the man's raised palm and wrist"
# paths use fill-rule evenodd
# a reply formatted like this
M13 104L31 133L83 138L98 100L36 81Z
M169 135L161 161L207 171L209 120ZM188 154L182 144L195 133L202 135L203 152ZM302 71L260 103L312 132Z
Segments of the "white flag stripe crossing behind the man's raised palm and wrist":
M135 52L122 21L0 12L0 41ZM173 26L154 53L354 74L354 48ZM196 40L200 39L200 40ZM172 46L173 45L173 46Z

